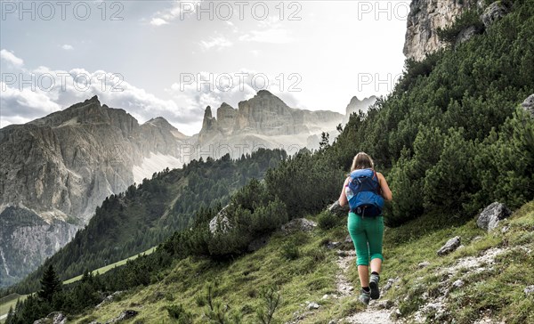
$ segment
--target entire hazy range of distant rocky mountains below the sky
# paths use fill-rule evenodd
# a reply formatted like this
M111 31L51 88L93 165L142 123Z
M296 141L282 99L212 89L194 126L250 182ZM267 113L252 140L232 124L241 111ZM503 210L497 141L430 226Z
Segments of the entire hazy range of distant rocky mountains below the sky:
M374 98L369 100L354 97L349 106L366 109ZM223 103L216 116L207 107L202 129L190 137L163 117L140 125L124 109L109 108L94 96L0 129L0 286L36 269L106 197L134 182L191 159L226 153L239 158L258 148L290 154L316 149L322 132L336 134L347 119L327 110L290 108L268 91L239 102L239 109Z

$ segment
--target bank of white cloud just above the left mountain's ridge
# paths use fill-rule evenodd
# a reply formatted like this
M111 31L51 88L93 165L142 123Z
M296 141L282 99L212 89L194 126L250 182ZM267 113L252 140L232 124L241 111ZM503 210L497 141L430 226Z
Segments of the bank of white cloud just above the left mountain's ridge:
M30 79L31 74L35 83L0 83L2 127L27 123L98 95L102 104L125 109L140 123L162 116L186 134L198 133L200 129L197 124L202 120L202 111L179 106L174 100L158 98L114 73L85 69L53 70L42 66L31 70L19 68L18 71L23 75L21 79L25 80ZM192 125L196 127L192 128Z

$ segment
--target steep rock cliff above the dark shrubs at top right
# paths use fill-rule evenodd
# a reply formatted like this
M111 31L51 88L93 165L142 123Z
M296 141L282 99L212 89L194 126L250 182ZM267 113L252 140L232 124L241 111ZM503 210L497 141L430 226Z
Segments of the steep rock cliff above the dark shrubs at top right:
M406 28L403 53L409 59L421 61L427 53L441 49L436 30L450 26L475 0L412 0Z

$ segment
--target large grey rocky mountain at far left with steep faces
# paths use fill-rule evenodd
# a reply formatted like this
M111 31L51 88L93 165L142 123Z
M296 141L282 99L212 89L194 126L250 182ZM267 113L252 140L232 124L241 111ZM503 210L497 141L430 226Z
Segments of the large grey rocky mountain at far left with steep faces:
M134 183L134 168L142 173L154 154L180 158L182 139L164 118L140 126L97 97L0 129L0 222L14 222L3 227L0 280L20 279L66 244L106 197ZM26 221L13 221L20 217Z

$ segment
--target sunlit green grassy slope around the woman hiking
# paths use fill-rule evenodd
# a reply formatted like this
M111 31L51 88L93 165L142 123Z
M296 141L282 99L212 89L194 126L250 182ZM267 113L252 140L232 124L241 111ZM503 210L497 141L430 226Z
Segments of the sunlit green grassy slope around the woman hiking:
M382 282L395 277L401 279L382 299L401 301L399 308L403 315L413 315L423 304L422 300L412 297L405 302L404 297L419 296L424 292L435 294L440 281L436 273L456 263L459 258L481 255L490 247L510 247L509 252L498 256L493 267L465 276L465 286L450 294L453 303L449 303L449 311L458 323L472 322L481 312L510 322L534 321L533 298L525 298L523 292L526 286L534 282L533 257L514 249L519 246L534 248L534 202L526 204L509 220L502 222L502 226L506 225L510 226L510 230L504 234L500 231L487 234L478 229L474 221L458 226L449 224L434 231L436 225L433 224L432 215L427 215L400 228L387 229L384 234L386 261ZM461 236L465 247L447 256L437 256L436 250L456 235ZM260 303L259 288L271 284L277 285L283 297L283 303L275 314L279 320L291 320L294 312L303 311L306 301L317 302L321 307L306 317L304 323L342 319L352 312L363 311L363 308L352 296L321 299L325 294L336 293L338 272L336 251L323 247L322 243L327 239L343 241L345 236L344 219L339 219L339 226L329 231L317 229L311 233L289 236L275 233L266 247L244 255L233 263L182 260L174 265L172 271L162 273L162 279L157 284L134 289L116 302L85 313L76 322L104 322L125 309L140 312L132 322L171 322L166 306L172 304L182 304L194 314L196 322L206 322L206 319L202 319L205 306L198 306L196 300L204 293L206 283L215 278L220 282L217 298L229 304L231 309L243 312L246 323L257 321L255 307ZM478 236L481 239L473 241ZM299 247L299 258L290 261L285 257L287 244ZM430 265L419 269L417 264L423 261L428 261ZM356 283L357 272L353 264L350 273ZM460 271L460 274L463 273ZM425 283L424 288L421 288L421 283ZM458 312L458 309L461 311Z

